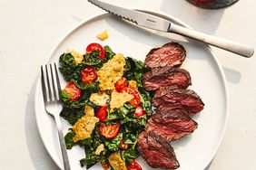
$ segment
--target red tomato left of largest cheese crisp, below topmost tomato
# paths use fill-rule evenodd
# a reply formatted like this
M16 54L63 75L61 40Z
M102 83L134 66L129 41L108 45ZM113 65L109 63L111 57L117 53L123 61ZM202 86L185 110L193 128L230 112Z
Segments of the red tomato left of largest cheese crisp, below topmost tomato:
M94 67L88 67L81 72L82 74L82 82L84 84L90 84L97 79L96 69Z

